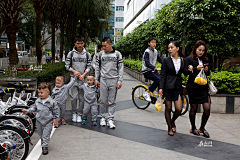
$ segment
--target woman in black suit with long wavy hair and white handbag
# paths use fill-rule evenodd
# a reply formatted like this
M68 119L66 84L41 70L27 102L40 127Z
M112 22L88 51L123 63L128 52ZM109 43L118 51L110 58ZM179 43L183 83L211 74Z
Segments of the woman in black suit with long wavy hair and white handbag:
M210 115L210 95L208 94L208 85L199 85L194 82L196 76L202 69L204 70L206 76L210 75L206 56L206 43L202 40L197 41L191 55L186 58L185 71L186 74L189 75L187 89L191 105L189 119L192 128L190 129L190 133L193 133L194 135L200 135L200 133L203 133L205 137L209 138L209 133L205 129L205 125ZM203 104L204 112L202 114L201 126L199 129L196 129L195 118L198 104Z

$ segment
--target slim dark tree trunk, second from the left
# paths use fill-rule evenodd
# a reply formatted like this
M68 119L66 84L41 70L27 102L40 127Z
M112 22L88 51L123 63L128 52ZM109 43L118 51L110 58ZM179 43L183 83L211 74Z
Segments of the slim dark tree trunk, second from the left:
M41 48L41 11L36 10L36 55L37 65L41 65L42 61L42 48Z

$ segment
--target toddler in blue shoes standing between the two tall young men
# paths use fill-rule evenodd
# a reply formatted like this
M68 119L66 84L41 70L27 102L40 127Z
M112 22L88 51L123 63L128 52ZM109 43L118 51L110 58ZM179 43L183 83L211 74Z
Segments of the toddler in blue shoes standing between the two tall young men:
M84 108L83 108L83 116L82 116L82 124L86 124L87 115L89 110L91 109L92 114L92 124L93 126L97 126L97 114L98 114L98 105L97 105L97 95L98 89L94 83L93 74L89 74L87 76L87 83L80 85L79 88L84 91Z

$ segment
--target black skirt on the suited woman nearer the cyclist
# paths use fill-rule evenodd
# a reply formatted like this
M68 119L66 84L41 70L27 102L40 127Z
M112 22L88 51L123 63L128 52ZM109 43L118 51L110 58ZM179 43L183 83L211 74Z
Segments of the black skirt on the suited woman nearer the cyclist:
M179 95L182 97L182 89L164 89L163 97L166 97L168 101L177 101Z

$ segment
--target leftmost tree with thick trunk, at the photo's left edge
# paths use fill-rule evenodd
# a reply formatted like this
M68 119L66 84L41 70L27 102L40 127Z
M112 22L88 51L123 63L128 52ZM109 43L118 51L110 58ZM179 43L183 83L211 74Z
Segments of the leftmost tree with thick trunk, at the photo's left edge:
M17 65L19 61L16 49L16 34L19 29L19 18L22 5L22 0L5 0L0 3L1 17L3 19L1 32L4 30L6 31L9 41L9 65L11 76L17 75L16 69L13 70L13 68L14 65Z

